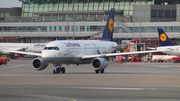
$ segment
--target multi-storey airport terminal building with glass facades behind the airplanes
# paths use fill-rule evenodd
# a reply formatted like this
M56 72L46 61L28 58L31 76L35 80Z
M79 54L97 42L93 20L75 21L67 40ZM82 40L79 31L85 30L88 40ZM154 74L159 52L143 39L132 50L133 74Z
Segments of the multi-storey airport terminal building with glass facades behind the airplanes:
M162 27L180 44L179 0L21 0L17 14L0 8L1 42L99 39L115 8L114 41L142 39L158 46ZM20 13L19 13L20 12ZM141 26L141 28L140 28ZM146 42L149 40L148 42ZM156 41L157 42L156 42ZM149 44L150 43L150 44Z

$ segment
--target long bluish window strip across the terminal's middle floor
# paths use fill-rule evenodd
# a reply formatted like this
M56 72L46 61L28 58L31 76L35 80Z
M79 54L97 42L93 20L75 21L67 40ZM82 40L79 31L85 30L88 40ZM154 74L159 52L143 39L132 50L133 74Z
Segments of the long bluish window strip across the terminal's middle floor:
M142 33L147 32L157 32L157 28L154 27L141 27ZM68 26L68 31L73 32L103 32L105 26ZM133 30L133 27L129 27ZM162 26L165 32L180 32L180 26ZM127 33L127 31L122 27L114 27L114 33ZM67 26L0 26L0 32L67 32ZM135 27L135 32L139 32L139 27Z

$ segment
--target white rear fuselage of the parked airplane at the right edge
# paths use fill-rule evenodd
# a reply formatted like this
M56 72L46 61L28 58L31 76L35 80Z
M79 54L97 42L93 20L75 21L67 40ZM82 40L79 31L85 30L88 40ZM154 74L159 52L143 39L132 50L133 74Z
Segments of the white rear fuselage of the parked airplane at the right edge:
M161 46L161 47L157 47L156 49L157 50L169 49L170 51L163 52L163 53L180 56L180 46Z

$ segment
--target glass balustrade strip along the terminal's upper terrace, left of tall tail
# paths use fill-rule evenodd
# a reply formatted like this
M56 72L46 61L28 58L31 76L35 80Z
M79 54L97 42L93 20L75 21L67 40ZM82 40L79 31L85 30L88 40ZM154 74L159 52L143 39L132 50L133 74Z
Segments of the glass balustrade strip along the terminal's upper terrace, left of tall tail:
M84 21L107 21L108 15L103 14L88 14L74 15L74 21L84 22ZM73 15L58 15L58 16L39 16L39 17L6 17L5 22L73 22Z

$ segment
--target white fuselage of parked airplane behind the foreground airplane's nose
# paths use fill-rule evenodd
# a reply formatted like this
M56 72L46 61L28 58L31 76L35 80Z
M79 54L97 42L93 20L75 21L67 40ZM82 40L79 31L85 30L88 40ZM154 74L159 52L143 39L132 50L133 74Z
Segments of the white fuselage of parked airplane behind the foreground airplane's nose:
M0 52L2 52L2 50L41 52L46 44L47 43L0 43Z

